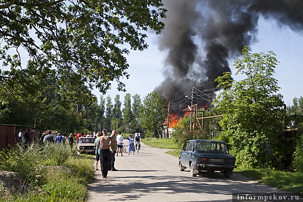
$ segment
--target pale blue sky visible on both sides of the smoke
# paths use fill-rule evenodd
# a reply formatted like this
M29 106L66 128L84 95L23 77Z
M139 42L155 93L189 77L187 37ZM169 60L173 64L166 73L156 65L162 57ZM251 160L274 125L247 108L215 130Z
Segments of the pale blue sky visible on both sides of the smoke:
M253 53L273 51L277 56L280 64L276 68L274 78L276 78L281 87L279 93L283 95L284 103L287 106L292 105L294 97L300 97L303 94L303 84L301 78L303 76L303 36L300 33L291 31L287 26L278 25L273 20L265 20L262 17L259 20L258 42L250 45ZM163 80L163 61L165 53L158 49L158 36L153 33L148 34L147 43L149 48L143 52L131 52L127 57L130 64L127 72L130 74L128 80L122 81L126 84L127 92L119 92L116 90L116 83L113 83L112 89L107 92L113 102L116 94L120 95L123 103L124 95L139 94L141 99L149 92L153 91ZM235 69L232 67L233 61L230 60L232 74ZM241 79L241 76L234 76L235 80ZM100 93L94 91L96 96L100 97Z

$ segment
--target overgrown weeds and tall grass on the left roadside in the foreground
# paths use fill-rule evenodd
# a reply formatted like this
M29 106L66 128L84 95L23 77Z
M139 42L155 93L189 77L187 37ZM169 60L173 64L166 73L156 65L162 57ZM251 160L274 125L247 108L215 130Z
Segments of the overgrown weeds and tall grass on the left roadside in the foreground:
M93 157L75 155L64 146L13 147L0 152L0 162L1 170L18 172L27 183L42 188L33 187L27 194L11 193L2 201L85 201L86 186L94 178Z

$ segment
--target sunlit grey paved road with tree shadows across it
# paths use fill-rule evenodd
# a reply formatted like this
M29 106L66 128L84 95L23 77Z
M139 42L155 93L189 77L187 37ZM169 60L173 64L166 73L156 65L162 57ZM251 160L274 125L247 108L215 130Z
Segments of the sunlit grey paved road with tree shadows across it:
M232 201L233 192L281 192L235 173L230 178L223 178L220 172L191 177L188 169L179 171L178 158L164 154L167 150L142 144L139 154L116 157L115 167L119 171L109 171L107 179L96 171L87 200Z

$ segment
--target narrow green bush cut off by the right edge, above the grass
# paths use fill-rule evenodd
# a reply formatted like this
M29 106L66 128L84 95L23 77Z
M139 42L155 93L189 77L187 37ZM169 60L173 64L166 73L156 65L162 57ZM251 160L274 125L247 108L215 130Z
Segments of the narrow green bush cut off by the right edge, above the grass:
M300 124L302 125L302 124ZM300 128L297 132L297 141L293 153L292 165L295 171L303 173L303 130Z

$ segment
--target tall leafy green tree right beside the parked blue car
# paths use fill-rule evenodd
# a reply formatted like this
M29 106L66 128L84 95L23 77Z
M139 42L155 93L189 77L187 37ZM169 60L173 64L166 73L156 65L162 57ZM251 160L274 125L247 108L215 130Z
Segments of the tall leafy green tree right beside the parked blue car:
M238 165L273 166L280 158L279 135L282 130L283 106L278 81L273 77L277 60L273 52L250 53L243 48L243 59L236 60L236 74L244 79L233 81L229 72L218 77L224 88L214 105L224 114L221 125L234 150Z

